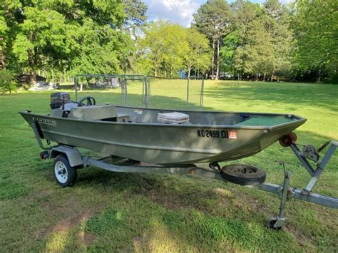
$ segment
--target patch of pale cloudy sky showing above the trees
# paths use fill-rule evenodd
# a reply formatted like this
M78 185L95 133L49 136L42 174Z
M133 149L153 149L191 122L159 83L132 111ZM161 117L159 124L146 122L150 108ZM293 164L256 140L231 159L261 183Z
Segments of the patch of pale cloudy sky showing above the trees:
M206 0L143 0L148 6L149 21L165 19L184 27L190 26L193 14ZM253 3L263 3L265 0L252 0ZM290 0L282 0L286 3ZM232 0L229 1L229 3Z

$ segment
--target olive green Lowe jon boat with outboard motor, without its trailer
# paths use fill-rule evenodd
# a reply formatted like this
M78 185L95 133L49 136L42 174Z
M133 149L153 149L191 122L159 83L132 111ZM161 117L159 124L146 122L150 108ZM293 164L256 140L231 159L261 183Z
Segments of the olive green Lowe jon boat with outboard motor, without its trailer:
M68 93L54 93L51 100L48 115L20 112L41 138L159 165L245 158L306 121L293 114L95 105L91 97L76 103Z

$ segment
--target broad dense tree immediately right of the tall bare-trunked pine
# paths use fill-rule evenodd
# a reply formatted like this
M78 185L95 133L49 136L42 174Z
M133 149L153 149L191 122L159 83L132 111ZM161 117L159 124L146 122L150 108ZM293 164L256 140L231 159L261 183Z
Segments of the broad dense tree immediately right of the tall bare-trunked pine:
M277 0L267 0L262 8L237 1L232 8L236 31L232 34L237 35L237 41L232 41L237 42L237 49L230 56L237 71L271 81L276 73L283 76L290 71L293 42L285 6Z

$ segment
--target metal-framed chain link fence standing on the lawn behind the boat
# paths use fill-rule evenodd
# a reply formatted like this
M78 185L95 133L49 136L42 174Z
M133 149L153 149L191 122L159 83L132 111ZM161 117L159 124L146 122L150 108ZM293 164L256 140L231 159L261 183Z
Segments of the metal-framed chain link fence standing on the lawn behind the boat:
M144 108L203 108L202 78L159 78L142 75L77 75L76 100L93 96L99 103Z

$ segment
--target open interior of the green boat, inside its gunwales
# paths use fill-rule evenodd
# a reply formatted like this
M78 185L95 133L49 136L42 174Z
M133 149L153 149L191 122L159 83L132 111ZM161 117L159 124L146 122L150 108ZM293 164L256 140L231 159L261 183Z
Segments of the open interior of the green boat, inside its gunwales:
M268 115L255 113L222 113L222 112L198 112L198 111L180 111L180 115L186 114L188 120L174 124L193 124L193 125L278 125L295 120L293 115ZM61 118L71 118L78 120L101 120L108 122L124 122L124 123L156 123L156 124L172 124L163 122L163 118L159 115L163 113L173 113L172 110L154 110L148 108L130 108L115 105L90 105L78 106L71 110L53 109L51 116ZM297 118L296 118L297 119Z

